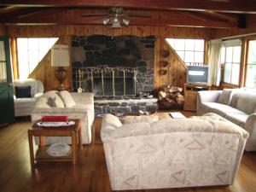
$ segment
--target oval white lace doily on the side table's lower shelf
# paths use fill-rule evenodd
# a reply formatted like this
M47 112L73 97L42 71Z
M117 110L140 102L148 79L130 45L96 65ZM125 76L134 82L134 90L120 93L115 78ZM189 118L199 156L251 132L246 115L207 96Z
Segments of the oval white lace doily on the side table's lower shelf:
M50 145L46 152L53 157L63 157L71 153L71 148L65 143L55 143Z

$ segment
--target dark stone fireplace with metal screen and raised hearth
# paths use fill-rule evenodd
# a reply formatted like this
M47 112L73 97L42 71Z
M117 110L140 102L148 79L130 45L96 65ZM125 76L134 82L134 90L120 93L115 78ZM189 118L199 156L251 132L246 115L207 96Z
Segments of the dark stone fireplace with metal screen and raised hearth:
M155 110L139 97L154 88L154 36L73 36L72 48L73 90L93 92L96 113Z

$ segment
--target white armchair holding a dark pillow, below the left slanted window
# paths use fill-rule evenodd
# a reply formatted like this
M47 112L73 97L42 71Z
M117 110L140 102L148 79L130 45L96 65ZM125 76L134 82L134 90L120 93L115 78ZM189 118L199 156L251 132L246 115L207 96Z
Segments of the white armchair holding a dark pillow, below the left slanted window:
M44 94L44 84L37 79L14 80L13 84L14 88L15 86L31 86L31 97L17 98L14 95L15 117L31 115L34 102Z

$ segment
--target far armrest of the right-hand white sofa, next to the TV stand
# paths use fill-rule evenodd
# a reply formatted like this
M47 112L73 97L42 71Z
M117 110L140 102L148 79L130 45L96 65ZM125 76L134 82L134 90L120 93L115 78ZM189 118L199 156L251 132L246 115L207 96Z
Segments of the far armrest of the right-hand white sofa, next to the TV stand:
M202 90L197 93L197 102L217 102L222 90Z

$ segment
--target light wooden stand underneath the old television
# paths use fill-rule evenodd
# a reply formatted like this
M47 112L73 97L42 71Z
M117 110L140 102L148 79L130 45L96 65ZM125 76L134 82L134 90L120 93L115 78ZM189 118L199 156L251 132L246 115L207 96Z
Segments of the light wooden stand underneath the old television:
M196 96L201 90L211 90L212 84L184 84L184 110L196 111Z

